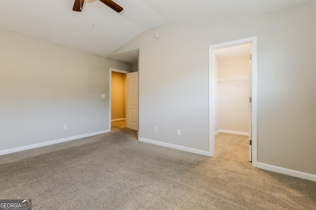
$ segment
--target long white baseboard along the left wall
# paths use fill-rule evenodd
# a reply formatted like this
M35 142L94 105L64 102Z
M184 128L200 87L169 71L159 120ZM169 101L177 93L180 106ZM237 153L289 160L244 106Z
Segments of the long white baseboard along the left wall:
M30 150L30 149L44 147L44 146L48 146L48 145L54 145L54 144L58 144L58 143L62 143L62 142L68 142L68 141L81 139L81 138L89 137L89 136L95 136L95 135L108 133L108 132L110 132L110 130L103 130L103 131L98 131L98 132L94 132L94 133L87 133L87 134L82 134L79 136L72 136L72 137L68 137L68 138L64 138L64 139L57 139L57 140L53 140L53 141L49 141L49 142L42 142L39 144L13 148L13 149L9 149L9 150L1 150L0 155L9 154L9 153L17 152L17 151Z

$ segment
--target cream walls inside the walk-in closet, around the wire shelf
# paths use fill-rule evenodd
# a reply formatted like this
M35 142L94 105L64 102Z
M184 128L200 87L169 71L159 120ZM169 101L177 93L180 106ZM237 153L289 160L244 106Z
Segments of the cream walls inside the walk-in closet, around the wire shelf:
M215 51L216 54L216 51ZM218 59L218 79L249 76L249 55ZM219 129L249 132L249 82L217 82ZM216 130L215 130L216 131Z

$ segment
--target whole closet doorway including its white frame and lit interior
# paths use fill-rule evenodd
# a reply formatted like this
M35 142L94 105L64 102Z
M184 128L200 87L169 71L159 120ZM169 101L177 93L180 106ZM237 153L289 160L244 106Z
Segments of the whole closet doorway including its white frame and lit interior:
M256 37L210 46L210 156L257 165Z

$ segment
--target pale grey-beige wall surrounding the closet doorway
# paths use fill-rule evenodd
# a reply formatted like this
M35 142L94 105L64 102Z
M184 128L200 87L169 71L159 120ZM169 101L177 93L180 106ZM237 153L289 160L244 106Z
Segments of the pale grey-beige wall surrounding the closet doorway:
M208 151L209 46L257 36L257 159L316 175L315 11L311 0L262 16L165 23L121 46L113 54L140 48L139 137Z

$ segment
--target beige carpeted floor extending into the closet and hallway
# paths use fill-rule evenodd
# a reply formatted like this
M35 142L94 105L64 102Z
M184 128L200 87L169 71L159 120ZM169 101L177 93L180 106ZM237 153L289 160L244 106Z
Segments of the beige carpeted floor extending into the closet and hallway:
M111 133L0 156L0 199L33 210L315 210L316 182L260 170L247 137L216 135L206 157Z

